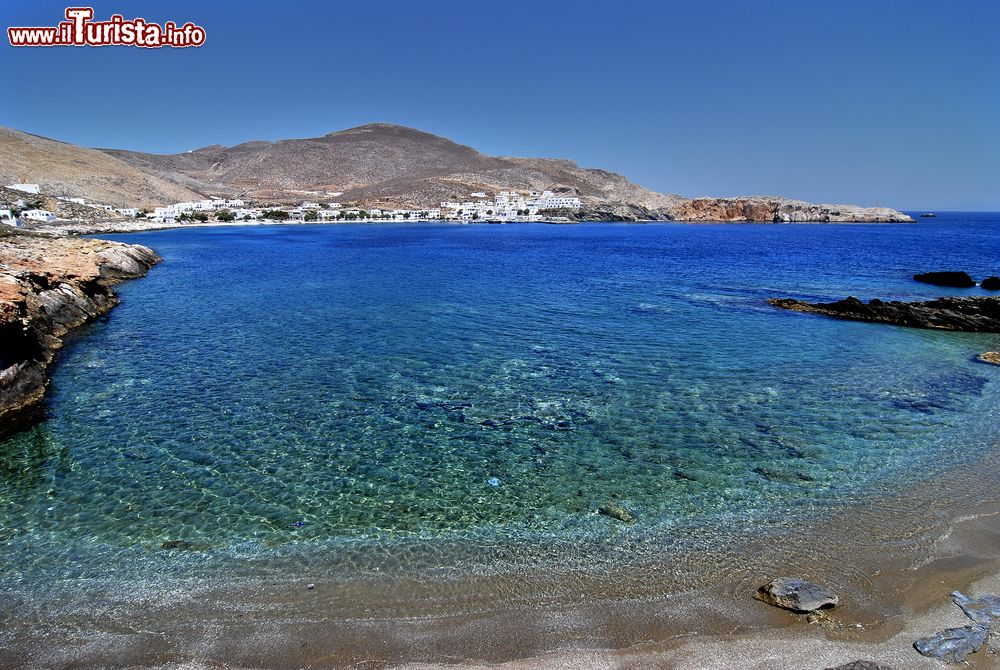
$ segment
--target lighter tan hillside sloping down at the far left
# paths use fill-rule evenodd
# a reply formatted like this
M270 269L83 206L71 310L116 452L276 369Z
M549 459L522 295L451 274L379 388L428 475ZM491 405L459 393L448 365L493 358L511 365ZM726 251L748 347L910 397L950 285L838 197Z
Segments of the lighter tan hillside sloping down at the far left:
M200 196L102 151L0 128L0 185L38 184L45 195L121 207L152 207Z

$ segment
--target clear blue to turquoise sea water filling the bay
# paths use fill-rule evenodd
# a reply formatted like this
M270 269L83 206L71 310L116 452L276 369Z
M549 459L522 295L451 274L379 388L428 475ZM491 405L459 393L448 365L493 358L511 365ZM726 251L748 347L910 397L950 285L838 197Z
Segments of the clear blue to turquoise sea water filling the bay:
M1000 368L972 359L997 337L765 303L948 294L910 276L996 274L995 215L117 239L164 262L68 342L48 419L0 445L0 583L338 552L404 570L432 545L425 567L554 547L593 565L609 542L822 515L996 443ZM609 501L638 522L597 515Z

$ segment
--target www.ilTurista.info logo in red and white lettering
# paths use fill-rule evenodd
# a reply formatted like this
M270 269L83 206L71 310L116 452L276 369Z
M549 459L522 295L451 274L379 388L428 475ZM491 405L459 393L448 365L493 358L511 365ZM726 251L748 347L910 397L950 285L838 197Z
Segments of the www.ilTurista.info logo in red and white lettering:
M93 21L93 7L67 7L66 20L54 27L11 27L7 29L12 47L200 47L205 29L188 22L178 26L167 21L162 26L146 19L126 20L113 14L108 21Z

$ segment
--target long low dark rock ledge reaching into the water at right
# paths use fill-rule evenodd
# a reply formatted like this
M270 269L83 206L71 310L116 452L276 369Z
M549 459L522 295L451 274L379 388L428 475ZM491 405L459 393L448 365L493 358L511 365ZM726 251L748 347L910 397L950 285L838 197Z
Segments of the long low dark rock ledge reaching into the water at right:
M888 323L910 328L1000 333L1000 298L937 298L923 302L864 303L857 298L810 303L791 298L772 298L768 303L795 312L823 314L850 321Z

